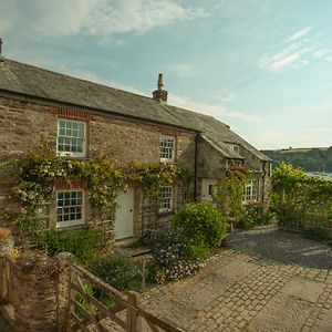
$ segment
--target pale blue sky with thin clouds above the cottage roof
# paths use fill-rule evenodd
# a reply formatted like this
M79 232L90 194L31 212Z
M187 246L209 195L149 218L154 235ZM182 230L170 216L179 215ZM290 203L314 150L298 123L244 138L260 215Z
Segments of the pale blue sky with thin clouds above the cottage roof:
M2 55L215 116L260 149L332 145L331 0L0 0Z

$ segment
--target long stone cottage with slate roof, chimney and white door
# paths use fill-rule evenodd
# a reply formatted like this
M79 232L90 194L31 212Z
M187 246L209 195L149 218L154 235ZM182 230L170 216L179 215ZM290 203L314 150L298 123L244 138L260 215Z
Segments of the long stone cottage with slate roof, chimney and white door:
M212 185L234 164L255 176L245 200L263 201L270 193L271 160L212 116L167 104L162 75L147 97L0 56L0 164L38 146L41 136L54 155L90 158L100 151L118 165L162 162L189 170L189 187L165 185L159 199L136 185L122 193L115 217L118 239L167 222L188 201L211 200ZM43 209L48 227L76 229L95 222L114 236L113 222L95 220L97 212L80 180L70 190L61 184L55 188ZM10 180L0 188L0 208L9 205L9 189Z

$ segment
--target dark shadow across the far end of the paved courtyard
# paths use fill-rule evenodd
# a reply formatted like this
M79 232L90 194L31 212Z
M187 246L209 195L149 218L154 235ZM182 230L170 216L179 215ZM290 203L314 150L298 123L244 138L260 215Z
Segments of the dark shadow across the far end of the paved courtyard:
M230 234L227 237L227 246L284 264L332 269L331 246L279 230L277 225Z

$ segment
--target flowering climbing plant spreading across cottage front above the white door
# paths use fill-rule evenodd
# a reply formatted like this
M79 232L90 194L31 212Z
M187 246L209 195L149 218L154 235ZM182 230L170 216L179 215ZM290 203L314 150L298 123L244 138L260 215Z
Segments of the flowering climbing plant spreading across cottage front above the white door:
M143 190L157 195L162 185L176 178L186 181L190 177L188 170L173 164L132 164L122 168L106 156L91 159L54 156L46 143L4 167L8 176L15 180L10 196L21 206L21 214L14 216L13 221L41 247L46 247L50 237L45 236L49 232L45 226L38 222L40 209L43 203L50 200L59 181L68 188L74 181L82 181L91 205L113 219L118 193L127 189L128 184L138 183Z

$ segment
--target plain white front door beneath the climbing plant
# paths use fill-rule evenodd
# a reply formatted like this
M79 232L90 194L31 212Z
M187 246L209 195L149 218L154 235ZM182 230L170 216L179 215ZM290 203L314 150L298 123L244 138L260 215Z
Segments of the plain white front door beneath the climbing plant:
M115 215L115 238L123 239L134 235L134 193L122 191L117 197L118 208Z

